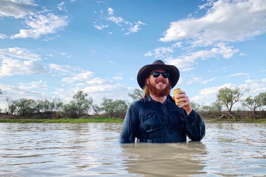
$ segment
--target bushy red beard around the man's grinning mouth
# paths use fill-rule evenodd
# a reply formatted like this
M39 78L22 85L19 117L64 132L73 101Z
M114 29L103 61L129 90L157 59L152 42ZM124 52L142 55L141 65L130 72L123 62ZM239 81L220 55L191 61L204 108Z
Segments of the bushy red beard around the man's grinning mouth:
M158 82L158 81L156 81ZM151 83L151 84L148 84L148 93L153 95L153 96L156 96L156 97L164 97L166 95L170 95L170 90L172 89L172 86L171 86L171 83L168 82L168 83L165 83L167 84L166 87L164 89L158 89L156 88L155 86L155 83Z

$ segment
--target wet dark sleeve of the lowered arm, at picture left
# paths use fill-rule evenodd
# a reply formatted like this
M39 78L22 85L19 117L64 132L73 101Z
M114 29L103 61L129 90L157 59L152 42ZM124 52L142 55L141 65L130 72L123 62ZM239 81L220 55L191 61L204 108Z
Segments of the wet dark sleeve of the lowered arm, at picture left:
M135 143L138 129L138 114L131 105L124 119L122 131L119 136L119 143Z

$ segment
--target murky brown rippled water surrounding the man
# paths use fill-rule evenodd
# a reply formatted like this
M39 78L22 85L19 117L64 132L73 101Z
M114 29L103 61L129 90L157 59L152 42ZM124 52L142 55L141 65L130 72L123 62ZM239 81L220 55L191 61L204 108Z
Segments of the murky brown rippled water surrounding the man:
M122 123L0 123L0 177L266 176L266 124L206 123L201 142L119 144Z

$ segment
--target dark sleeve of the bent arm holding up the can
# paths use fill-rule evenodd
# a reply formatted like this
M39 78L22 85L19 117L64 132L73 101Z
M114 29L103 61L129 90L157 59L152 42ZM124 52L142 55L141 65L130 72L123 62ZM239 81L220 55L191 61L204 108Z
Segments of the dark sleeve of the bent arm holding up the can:
M204 120L194 109L186 117L186 131L192 141L201 141L205 136Z

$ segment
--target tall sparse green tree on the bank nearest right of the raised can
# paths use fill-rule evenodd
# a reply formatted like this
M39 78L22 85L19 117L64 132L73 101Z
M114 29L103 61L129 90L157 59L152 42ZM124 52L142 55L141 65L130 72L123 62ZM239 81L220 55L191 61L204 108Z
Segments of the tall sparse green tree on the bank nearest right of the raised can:
M244 95L245 92L249 92L250 88L244 89L244 87L239 88L235 87L235 89L232 89L232 87L223 87L218 90L217 94L217 100L227 107L228 114L231 115L232 106L238 102L242 101L241 97Z

